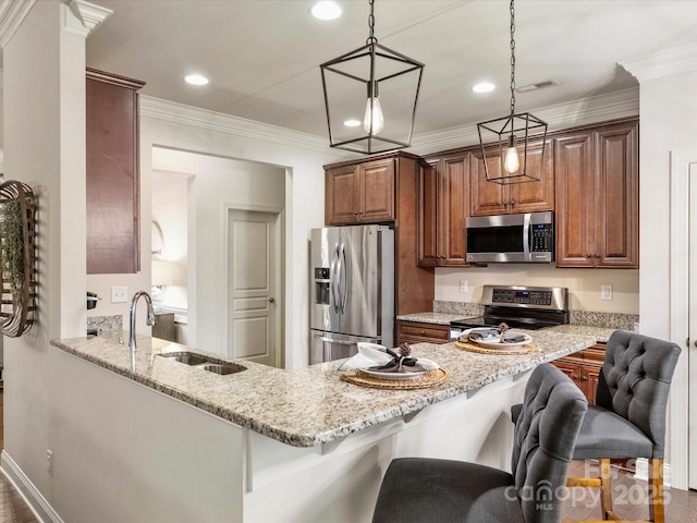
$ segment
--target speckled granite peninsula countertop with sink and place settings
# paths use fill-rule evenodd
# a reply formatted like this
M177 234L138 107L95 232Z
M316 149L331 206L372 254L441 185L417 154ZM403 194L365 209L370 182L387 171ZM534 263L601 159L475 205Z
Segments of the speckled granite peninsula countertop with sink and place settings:
M362 388L342 381L337 369L343 360L278 369L145 336L137 337L138 348L133 357L127 344L119 343L119 338L129 339L127 332L52 340L51 344L242 427L294 447L314 447L596 343L592 336L550 331L530 335L540 348L534 354L485 355L462 351L452 343L414 344L415 356L437 361L449 377L431 389L400 391ZM157 356L188 350L237 363L246 370L221 376Z

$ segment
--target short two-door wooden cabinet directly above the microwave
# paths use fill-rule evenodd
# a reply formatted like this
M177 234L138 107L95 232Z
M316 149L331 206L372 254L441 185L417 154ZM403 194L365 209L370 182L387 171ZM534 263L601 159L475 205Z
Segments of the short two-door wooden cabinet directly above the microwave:
M492 151L493 153L493 151ZM484 157L474 150L470 161L470 216L505 215L513 212L538 212L554 210L554 148L551 139L528 145L527 161L530 172L540 172L539 182L501 185L487 181ZM501 163L487 150L489 172L498 177Z

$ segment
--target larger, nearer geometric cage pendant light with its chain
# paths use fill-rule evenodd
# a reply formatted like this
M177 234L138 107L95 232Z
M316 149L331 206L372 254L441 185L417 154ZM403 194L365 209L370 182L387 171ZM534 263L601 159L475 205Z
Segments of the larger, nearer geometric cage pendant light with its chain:
M330 146L371 155L411 145L424 64L378 44L368 3L366 45L320 71Z

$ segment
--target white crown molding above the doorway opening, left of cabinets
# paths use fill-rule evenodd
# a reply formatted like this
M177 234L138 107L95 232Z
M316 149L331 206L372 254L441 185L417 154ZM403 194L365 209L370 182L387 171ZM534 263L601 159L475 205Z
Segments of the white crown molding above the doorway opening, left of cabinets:
M168 123L260 139L288 147L330 155L338 159L357 157L355 154L341 149L331 149L329 147L329 139L326 137L149 96L140 96L140 118L149 118Z

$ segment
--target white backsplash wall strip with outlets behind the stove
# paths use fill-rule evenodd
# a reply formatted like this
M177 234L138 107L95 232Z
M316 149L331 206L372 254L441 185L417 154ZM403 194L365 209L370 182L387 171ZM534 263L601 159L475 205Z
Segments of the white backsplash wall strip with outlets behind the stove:
M468 292L460 292L460 281ZM466 269L436 269L436 300L481 301L482 285L524 284L568 288L568 307L574 311L639 314L639 271L631 269L558 269L548 265L494 265ZM600 285L612 285L612 300L600 300Z

